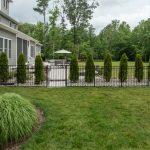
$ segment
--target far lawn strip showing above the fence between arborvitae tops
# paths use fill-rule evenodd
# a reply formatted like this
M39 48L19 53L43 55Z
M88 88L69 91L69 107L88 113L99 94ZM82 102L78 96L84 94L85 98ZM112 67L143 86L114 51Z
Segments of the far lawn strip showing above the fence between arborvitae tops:
M95 65L98 66L104 66L104 62L95 62ZM120 65L120 61L113 61L112 62L113 66L119 66ZM85 66L85 62L79 62L79 66ZM128 66L135 66L135 62L128 62ZM144 63L144 66L148 66L148 63Z

